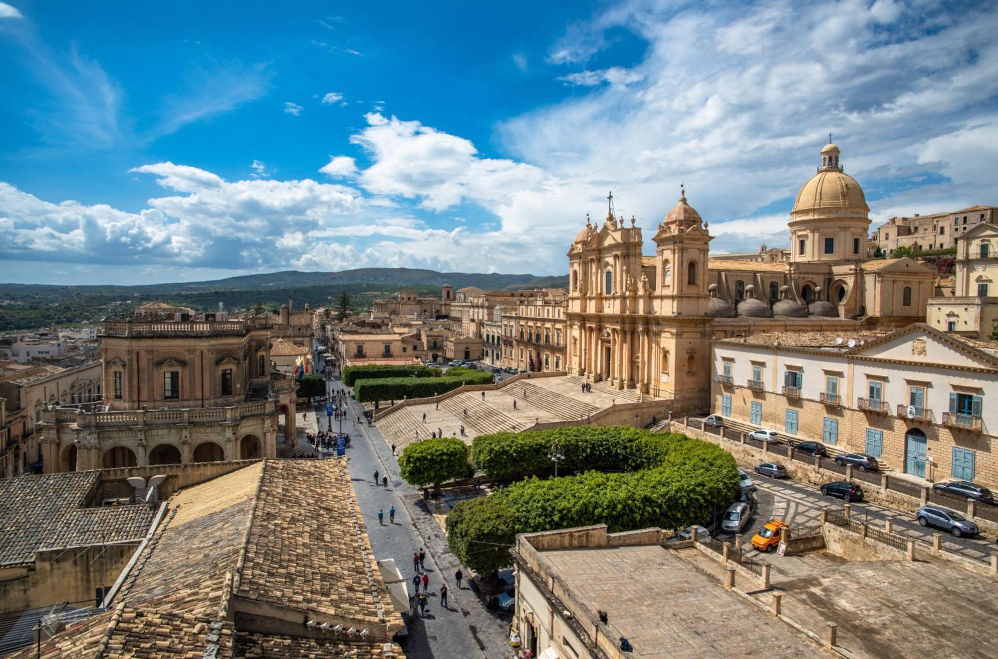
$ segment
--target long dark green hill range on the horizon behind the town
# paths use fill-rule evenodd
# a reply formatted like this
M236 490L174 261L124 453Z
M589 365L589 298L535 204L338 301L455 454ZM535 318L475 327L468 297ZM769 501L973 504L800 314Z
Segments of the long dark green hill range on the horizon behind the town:
M362 309L370 300L401 289L435 294L445 284L455 289L567 288L568 276L535 277L498 273L438 273L409 268L360 268L338 273L302 273L295 270L243 275L210 282L180 282L143 286L53 286L0 284L0 330L33 329L47 325L95 323L106 316L128 313L137 305L164 300L194 309L249 309L256 303L268 309L292 299L295 306L321 307L345 291Z

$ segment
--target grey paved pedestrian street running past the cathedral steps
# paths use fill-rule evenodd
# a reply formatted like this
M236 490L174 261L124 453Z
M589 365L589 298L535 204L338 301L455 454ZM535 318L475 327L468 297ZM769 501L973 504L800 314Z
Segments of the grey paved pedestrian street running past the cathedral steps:
M339 380L333 380L341 388ZM412 578L412 553L420 547L426 550L425 571L429 574L429 605L426 617L408 618L409 638L405 654L412 659L472 659L485 657L497 659L515 656L507 645L508 618L500 618L485 608L481 599L470 589L467 579L460 589L454 582L458 562L447 547L447 540L423 504L419 490L403 482L398 476L398 462L391 448L374 427L356 424L363 406L349 400L351 413L343 421L343 431L349 433L351 442L346 451L357 501L367 524L374 556L378 559L394 558L403 577ZM324 416L324 410L316 407ZM374 470L378 476L388 474L385 489L373 482ZM388 508L395 506L395 523L388 522ZM384 525L377 522L378 510L384 511ZM467 570L465 570L467 572ZM441 577L447 583L448 606L439 605ZM409 582L411 592L411 581Z

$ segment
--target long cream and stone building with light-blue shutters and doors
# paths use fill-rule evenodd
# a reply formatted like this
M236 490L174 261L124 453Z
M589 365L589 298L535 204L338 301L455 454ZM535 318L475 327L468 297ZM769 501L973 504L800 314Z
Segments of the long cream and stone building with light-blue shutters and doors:
M714 413L929 480L998 486L998 344L925 324L714 342Z

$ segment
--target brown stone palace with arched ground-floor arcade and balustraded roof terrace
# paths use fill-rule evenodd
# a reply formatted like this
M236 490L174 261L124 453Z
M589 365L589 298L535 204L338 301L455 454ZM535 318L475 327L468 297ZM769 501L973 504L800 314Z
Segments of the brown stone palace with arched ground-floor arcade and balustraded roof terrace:
M43 409L46 473L271 457L293 441L293 379L270 368L267 317L106 321L103 407Z

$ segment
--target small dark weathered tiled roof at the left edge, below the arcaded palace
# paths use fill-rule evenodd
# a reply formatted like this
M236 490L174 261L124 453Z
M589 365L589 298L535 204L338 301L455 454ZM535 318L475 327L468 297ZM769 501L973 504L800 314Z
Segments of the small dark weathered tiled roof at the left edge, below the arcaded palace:
M0 567L30 565L42 549L146 537L156 511L144 505L85 508L97 471L0 479Z

